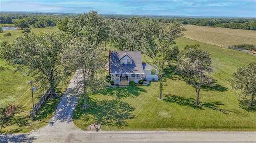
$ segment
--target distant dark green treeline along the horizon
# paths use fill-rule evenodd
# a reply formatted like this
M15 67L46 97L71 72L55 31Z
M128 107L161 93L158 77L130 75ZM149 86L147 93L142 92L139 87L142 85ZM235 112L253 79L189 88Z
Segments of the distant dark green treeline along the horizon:
M16 20L26 20L31 27L48 27L55 26L56 22L68 16L78 16L78 14L68 13L49 13L49 12L1 12L1 24L15 24ZM116 15L102 14L104 18L122 20L129 19L134 15ZM139 16L143 17L143 16ZM182 16L146 16L153 18L158 22L172 23L174 20L182 24L224 27L233 29L256 30L256 18L189 18Z

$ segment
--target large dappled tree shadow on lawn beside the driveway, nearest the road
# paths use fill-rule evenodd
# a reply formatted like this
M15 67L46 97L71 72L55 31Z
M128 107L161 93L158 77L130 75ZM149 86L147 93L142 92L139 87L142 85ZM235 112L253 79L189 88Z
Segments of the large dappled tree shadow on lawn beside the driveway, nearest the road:
M101 125L116 126L121 129L128 126L128 119L134 119L132 112L135 108L122 100L90 99L90 107L86 108L86 110L82 108L83 104L84 102L82 102L81 98L76 108L76 115L73 116L74 119L82 119L84 121L93 119Z

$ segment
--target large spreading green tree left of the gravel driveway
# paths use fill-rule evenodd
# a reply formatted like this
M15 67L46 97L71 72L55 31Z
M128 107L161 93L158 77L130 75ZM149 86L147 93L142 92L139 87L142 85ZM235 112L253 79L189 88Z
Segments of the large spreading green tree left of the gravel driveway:
M62 62L62 49L66 47L65 35L55 33L25 33L12 43L3 42L1 58L8 64L31 75L42 87L50 87L55 96L58 83L70 72Z

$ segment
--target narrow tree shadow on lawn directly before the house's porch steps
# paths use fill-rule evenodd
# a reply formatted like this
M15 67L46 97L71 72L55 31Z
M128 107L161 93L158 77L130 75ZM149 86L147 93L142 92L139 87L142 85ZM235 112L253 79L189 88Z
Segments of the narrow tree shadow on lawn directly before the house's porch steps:
M113 96L116 99L123 99L128 97L139 96L140 92L146 92L146 90L140 86L126 86L126 87L113 87L100 90L97 93Z

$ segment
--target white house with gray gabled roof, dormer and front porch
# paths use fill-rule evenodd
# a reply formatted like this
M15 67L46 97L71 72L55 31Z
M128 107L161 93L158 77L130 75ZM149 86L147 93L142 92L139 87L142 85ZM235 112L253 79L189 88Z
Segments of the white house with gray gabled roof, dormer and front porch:
M130 81L138 83L147 79L158 81L158 76L152 72L148 63L142 63L140 51L111 51L109 55L109 74L115 84L128 85ZM156 69L155 69L156 70ZM156 70L158 73L158 70Z

